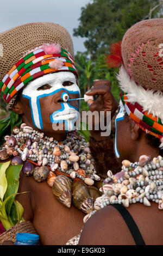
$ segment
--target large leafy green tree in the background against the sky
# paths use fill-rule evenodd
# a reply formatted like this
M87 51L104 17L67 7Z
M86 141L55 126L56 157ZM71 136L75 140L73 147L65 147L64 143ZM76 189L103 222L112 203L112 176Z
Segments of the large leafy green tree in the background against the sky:
M91 59L109 53L112 42L122 40L124 33L143 19L158 17L159 0L92 0L82 8L74 36L85 37L84 45Z

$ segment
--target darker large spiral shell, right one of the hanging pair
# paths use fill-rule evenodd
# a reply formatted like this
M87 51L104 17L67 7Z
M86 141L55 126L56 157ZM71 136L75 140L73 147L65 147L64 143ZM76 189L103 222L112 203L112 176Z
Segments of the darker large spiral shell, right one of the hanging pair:
M86 184L80 181L73 181L72 186L73 205L86 214L89 214L89 212L93 210L93 198L91 197Z

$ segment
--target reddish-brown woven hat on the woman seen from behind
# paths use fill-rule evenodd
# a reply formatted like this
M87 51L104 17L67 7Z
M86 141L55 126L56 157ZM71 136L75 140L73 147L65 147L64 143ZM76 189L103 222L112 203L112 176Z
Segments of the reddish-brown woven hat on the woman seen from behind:
M121 47L124 67L136 84L163 90L163 19L136 23L123 36Z

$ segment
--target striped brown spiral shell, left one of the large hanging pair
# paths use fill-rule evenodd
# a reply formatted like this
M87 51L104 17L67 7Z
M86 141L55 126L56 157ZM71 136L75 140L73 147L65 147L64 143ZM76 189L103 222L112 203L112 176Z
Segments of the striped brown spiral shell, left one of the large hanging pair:
M61 204L64 204L68 208L71 206L71 188L71 179L64 175L58 175L52 187L54 196L59 200Z

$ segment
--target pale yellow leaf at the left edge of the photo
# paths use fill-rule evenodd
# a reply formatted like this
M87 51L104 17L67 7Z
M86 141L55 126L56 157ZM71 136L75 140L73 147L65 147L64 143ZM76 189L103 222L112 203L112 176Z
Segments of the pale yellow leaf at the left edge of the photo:
M0 199L3 200L4 194L7 190L8 182L5 176L5 171L8 168L10 161L0 163Z

